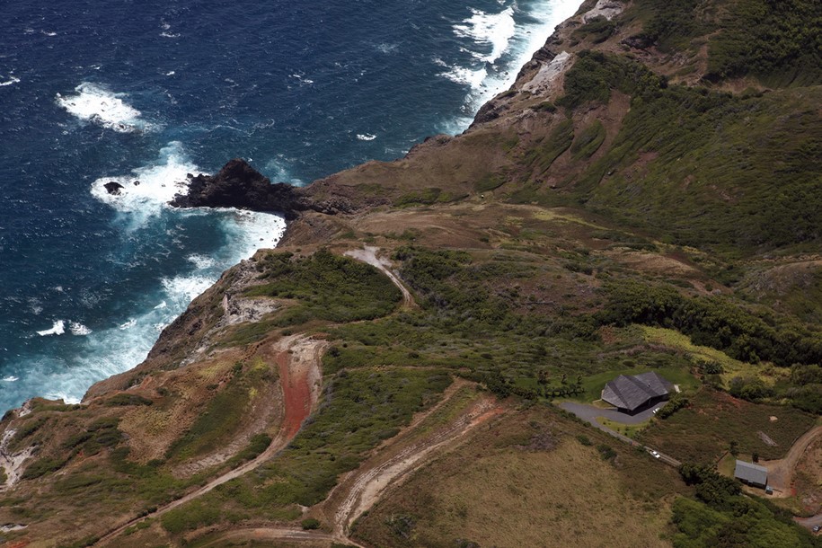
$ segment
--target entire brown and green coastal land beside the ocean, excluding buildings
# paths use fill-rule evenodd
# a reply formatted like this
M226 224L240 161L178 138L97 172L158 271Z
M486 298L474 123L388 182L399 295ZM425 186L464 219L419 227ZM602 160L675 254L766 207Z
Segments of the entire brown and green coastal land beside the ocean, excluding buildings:
M6 414L3 535L816 545L784 508L822 450L819 15L589 0L462 135L303 189L190 176L174 207L277 211L285 237L82 404ZM681 391L665 418L597 415L649 370ZM720 475L729 447L791 469L782 509Z

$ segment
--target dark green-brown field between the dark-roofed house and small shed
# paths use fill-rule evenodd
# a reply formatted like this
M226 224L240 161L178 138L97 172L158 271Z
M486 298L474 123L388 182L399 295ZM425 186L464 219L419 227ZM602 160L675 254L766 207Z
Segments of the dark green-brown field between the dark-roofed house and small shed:
M731 441L737 442L740 453L757 453L770 460L782 458L815 420L792 407L745 402L703 388L691 398L690 407L667 419L654 420L638 439L689 463L715 463ZM766 444L760 432L777 445Z

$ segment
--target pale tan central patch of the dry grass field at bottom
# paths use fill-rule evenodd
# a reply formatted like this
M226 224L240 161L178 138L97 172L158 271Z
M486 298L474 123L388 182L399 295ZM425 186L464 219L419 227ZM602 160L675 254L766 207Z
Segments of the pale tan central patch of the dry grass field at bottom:
M474 461L439 491L445 512L420 527L420 537L464 535L496 546L668 545L658 535L665 517L627 498L613 466L571 440L551 453Z

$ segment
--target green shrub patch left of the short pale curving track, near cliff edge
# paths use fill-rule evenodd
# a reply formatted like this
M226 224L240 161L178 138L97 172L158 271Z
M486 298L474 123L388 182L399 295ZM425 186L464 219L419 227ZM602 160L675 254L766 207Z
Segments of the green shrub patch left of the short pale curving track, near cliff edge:
M288 252L269 253L257 268L261 279L271 281L252 287L246 295L298 301L279 315L278 325L370 320L392 312L402 298L379 270L327 250L303 258Z

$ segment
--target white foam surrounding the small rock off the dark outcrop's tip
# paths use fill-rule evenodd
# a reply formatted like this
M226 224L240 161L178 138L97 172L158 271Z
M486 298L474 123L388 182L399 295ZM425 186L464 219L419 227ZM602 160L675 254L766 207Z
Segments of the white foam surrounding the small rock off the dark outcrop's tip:
M160 151L157 164L137 168L130 175L102 177L92 183L92 195L112 208L134 214L137 221L146 221L167 208L175 194L185 192L186 175L197 172L197 166L186 159L181 143L172 141ZM122 188L111 193L105 186L110 182Z

